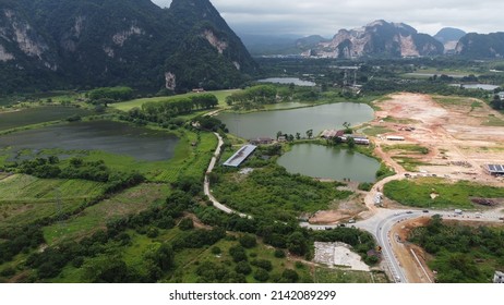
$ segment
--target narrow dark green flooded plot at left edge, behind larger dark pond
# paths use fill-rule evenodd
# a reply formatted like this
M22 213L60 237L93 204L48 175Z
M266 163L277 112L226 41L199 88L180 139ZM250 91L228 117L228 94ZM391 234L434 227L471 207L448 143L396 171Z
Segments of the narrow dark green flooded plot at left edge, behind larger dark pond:
M35 107L23 110L0 112L0 131L23 127L44 122L63 120L72 115L89 115L92 111L63 106Z

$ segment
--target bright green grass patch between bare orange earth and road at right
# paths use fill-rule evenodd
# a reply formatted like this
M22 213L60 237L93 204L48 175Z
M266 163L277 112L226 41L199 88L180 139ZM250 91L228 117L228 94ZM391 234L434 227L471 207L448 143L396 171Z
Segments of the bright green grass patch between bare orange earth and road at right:
M467 181L449 183L440 178L392 181L385 196L406 206L420 208L473 208L472 197L502 198L504 190ZM435 194L434 196L432 196Z

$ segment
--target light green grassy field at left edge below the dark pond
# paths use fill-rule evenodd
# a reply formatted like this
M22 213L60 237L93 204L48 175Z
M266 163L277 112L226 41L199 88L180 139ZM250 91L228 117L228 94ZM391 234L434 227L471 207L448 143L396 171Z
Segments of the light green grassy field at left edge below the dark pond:
M72 211L104 192L105 184L98 182L12 175L0 181L0 227L22 225L59 211Z

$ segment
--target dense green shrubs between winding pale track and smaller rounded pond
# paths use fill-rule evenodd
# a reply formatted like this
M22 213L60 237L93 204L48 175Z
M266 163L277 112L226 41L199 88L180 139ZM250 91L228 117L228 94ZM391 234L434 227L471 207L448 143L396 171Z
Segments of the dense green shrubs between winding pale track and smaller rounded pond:
M251 159L245 167L254 162L260 161ZM333 183L290 174L274 163L255 168L248 175L227 169L219 169L217 173L218 182L213 184L215 196L223 204L254 216L268 215L286 220L302 212L326 209L333 200L350 194L337 191Z

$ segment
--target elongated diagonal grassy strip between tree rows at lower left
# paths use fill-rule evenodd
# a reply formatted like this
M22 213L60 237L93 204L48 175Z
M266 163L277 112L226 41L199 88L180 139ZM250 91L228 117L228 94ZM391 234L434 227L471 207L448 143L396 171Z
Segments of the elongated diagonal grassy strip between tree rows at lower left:
M62 223L45 227L44 236L49 245L60 239L79 240L105 229L108 221L163 204L169 193L167 184L137 185L84 209Z

